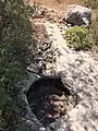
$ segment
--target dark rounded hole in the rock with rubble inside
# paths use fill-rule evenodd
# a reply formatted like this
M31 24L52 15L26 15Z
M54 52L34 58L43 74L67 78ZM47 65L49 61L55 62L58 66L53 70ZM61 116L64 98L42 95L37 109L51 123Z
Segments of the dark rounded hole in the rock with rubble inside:
M65 115L78 103L59 76L44 76L34 82L26 94L29 106L38 120L47 127Z

